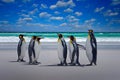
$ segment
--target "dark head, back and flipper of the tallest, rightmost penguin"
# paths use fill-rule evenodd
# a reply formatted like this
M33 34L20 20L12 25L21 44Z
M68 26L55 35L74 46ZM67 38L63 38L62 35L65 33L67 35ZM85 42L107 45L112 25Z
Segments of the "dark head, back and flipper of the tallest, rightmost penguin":
M97 61L97 42L96 42L96 38L94 36L93 30L89 30L89 34L90 34L90 42L91 42L92 54L93 54L93 59L92 59L90 65L92 65L92 63L94 63L96 65L96 61Z

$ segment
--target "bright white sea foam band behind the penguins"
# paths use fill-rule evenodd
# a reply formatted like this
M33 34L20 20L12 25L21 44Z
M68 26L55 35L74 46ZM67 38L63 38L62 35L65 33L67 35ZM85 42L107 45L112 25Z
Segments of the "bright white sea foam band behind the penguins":
M30 41L30 37L25 37L26 42ZM120 42L120 37L97 37L97 42ZM65 40L68 42L69 38L65 38ZM77 37L77 42L85 42L86 38L84 37ZM18 42L19 38L10 36L10 37L0 37L0 42ZM57 42L57 38L44 38L41 40L41 42Z

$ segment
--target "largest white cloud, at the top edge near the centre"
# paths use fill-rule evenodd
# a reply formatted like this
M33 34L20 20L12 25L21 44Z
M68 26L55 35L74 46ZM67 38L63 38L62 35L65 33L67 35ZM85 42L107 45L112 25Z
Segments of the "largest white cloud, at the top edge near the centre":
M75 3L73 0L65 1L58 1L55 5L51 5L50 9L55 9L59 7L75 7Z

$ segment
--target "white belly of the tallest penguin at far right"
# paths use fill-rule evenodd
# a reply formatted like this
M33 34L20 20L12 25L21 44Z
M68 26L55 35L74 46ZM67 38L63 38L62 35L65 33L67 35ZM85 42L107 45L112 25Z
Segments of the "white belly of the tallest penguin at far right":
M93 54L92 54L92 46L89 38L87 38L86 40L86 55L88 57L89 62L91 62L93 59Z

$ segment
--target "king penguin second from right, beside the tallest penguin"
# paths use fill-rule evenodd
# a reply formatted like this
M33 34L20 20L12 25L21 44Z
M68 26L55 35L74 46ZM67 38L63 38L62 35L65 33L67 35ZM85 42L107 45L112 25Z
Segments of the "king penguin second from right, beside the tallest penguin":
M73 46L73 50L71 52L71 65L74 66L74 65L81 65L80 62L79 62L79 47L78 47L78 44L76 43L76 40L74 38L74 36L70 36L69 37L70 40L71 40L71 44Z

